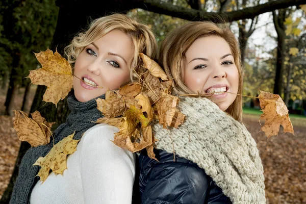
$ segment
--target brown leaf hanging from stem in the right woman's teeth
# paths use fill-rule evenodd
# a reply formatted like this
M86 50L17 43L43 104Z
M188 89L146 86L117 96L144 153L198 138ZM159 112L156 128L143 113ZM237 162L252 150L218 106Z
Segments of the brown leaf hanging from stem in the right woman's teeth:
M277 94L265 91L260 92L258 98L263 114L259 120L265 120L265 125L261 128L261 131L264 131L269 138L273 135L277 135L279 132L279 125L282 125L284 127L284 133L287 132L294 135L288 109L282 98Z

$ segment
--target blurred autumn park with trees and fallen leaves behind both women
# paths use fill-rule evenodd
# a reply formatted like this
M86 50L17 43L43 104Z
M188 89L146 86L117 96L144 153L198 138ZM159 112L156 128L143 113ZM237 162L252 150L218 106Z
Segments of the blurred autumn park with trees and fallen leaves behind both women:
M8 203L29 148L13 129L13 110L38 110L57 124L69 114L66 100L57 108L44 103L45 87L25 78L41 66L34 53L49 47L63 54L91 19L114 12L147 24L159 44L189 20L225 18L241 46L244 94L258 96L260 89L281 95L295 131L283 134L281 128L267 139L260 132L259 101L244 97L244 123L260 149L267 203L306 203L306 0L1 0L0 203Z

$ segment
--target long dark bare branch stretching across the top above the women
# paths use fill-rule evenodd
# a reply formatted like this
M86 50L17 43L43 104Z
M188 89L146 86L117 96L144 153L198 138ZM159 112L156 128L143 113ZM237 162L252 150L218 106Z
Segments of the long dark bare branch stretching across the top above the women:
M159 0L137 0L135 7L191 21L211 20L213 22L220 22L220 15L226 16L227 21L235 21L246 18L254 18L255 16L258 16L262 13L271 12L276 9L288 8L291 6L298 6L302 4L306 4L306 0L277 0L237 11L205 12L195 9L188 9L180 6L174 6L172 4L164 3Z

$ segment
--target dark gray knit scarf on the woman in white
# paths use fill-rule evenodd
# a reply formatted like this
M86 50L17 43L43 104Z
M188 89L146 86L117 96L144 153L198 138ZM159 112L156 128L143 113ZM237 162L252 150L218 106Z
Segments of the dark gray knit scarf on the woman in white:
M98 98L105 99L105 94ZM73 139L79 140L85 131L95 125L90 121L96 121L98 118L104 117L97 109L95 99L81 103L71 94L68 97L68 107L71 113L68 115L66 123L61 124L53 133L55 144L71 135L74 131ZM50 141L49 145L52 148L53 141ZM33 166L33 164L39 157L46 156L51 149L50 147L48 145L32 147L25 153L19 166L18 177L14 183L11 204L30 203L31 192L39 180L36 175L40 169L39 166Z

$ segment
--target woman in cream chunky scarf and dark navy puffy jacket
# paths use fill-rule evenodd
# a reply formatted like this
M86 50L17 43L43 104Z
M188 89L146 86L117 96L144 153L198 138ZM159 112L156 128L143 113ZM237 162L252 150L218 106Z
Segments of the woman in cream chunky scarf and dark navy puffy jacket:
M234 34L225 25L187 23L166 36L159 61L174 95L198 96L180 96L186 118L178 129L152 127L159 162L141 152L142 203L265 203L259 151L236 95L243 71Z

